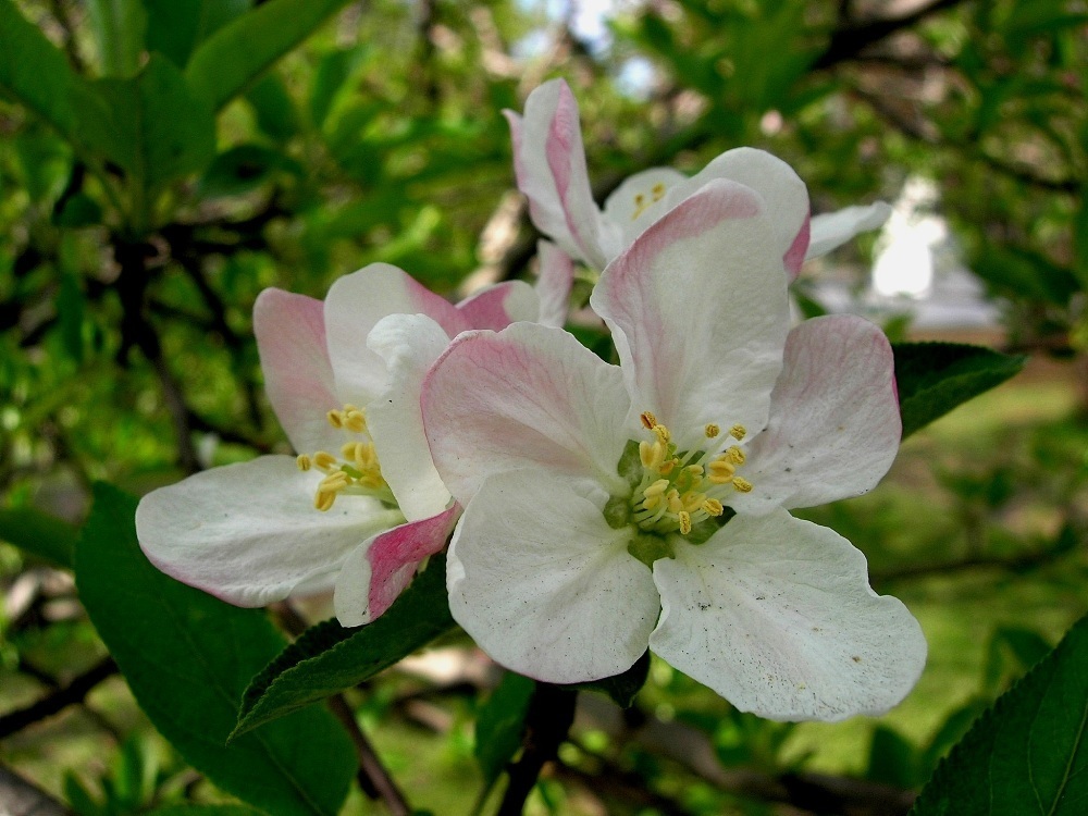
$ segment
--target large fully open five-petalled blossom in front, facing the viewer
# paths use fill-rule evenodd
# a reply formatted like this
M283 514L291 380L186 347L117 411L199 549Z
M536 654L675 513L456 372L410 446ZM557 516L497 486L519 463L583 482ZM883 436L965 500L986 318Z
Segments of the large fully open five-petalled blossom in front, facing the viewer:
M709 182L603 273L611 366L561 330L455 341L422 390L465 512L456 620L498 663L571 683L647 646L772 719L881 713L925 663L864 556L789 508L873 487L895 456L892 356L848 316L789 330L763 196Z

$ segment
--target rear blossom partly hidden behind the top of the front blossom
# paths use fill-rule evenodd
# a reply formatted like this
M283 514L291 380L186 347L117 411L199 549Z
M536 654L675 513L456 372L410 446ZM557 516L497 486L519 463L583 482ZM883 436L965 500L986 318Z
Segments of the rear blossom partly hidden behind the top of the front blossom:
M627 178L599 209L593 200L582 147L578 102L562 79L533 90L524 116L506 111L514 137L518 187L533 223L571 258L604 269L651 224L715 178L758 191L772 214L772 237L787 269L831 251L888 220L880 201L817 215L809 222L805 186L782 173L780 159L753 148L727 150L694 176L652 168Z

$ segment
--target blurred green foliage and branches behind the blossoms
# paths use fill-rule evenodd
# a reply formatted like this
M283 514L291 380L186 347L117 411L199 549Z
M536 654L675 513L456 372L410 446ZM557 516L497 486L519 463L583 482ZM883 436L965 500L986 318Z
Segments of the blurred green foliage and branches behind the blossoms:
M926 630L901 707L771 724L655 663L632 709L582 695L529 812L905 813L1088 611L1088 7L630 0L602 26L595 7L0 0L0 778L88 816L223 799L81 609L89 485L139 494L287 449L250 324L267 286L322 297L379 260L450 295L531 276L500 111L557 75L602 197L739 145L790 162L814 212L934 183L948 246L999 307L973 336L1031 362L912 437L875 493L806 514ZM247 15L261 24L230 36ZM808 269L803 311L837 281L873 312L874 243ZM874 313L922 336L908 301ZM455 639L348 695L416 807L470 812L471 724L498 678ZM381 812L359 791L348 808Z

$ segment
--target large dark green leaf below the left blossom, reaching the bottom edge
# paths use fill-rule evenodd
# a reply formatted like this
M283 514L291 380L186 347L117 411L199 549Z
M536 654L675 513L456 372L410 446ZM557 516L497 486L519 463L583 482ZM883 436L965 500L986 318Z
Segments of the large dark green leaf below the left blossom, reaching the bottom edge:
M275 814L338 813L356 755L329 712L298 712L226 745L236 701L284 640L263 613L152 567L135 512L135 498L96 485L75 567L79 597L140 707L186 762L238 799Z

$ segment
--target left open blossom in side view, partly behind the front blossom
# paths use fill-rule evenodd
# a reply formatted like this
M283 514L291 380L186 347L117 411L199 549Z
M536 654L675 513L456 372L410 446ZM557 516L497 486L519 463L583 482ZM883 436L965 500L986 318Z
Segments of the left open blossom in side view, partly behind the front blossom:
M232 604L335 588L345 626L376 617L444 546L459 512L423 435L423 374L460 332L539 312L524 283L454 306L384 263L337 280L324 302L265 289L254 330L269 401L297 456L153 491L136 512L140 546L164 572Z

